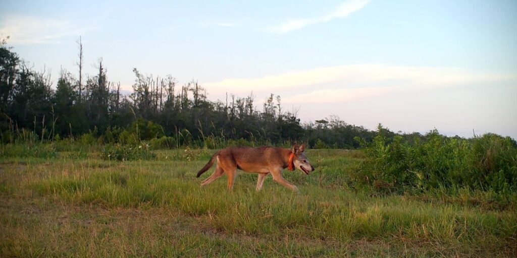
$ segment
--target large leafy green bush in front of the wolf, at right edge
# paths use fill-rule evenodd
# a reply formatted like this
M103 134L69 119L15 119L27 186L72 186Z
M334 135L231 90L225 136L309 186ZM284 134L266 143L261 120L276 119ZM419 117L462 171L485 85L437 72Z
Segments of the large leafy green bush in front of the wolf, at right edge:
M517 144L486 134L447 138L431 131L410 144L379 133L371 143L358 139L365 155L360 173L378 189L468 187L510 193L517 190Z

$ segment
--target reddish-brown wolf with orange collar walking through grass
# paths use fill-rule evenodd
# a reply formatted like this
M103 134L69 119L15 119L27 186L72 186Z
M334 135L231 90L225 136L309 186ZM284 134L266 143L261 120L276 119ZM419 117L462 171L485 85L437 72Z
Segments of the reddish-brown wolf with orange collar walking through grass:
M282 177L282 171L287 168L289 170L299 169L309 175L314 171L314 167L309 163L309 159L305 155L305 145L293 146L292 149L284 149L277 147L230 147L216 152L208 161L208 163L197 172L197 178L206 172L217 160L216 171L207 179L201 182L201 186L206 186L216 179L226 174L228 179L227 187L233 189L237 169L248 173L257 173L258 180L256 190L262 189L262 183L268 174L271 174L273 180L277 183L297 191L298 187L287 182Z

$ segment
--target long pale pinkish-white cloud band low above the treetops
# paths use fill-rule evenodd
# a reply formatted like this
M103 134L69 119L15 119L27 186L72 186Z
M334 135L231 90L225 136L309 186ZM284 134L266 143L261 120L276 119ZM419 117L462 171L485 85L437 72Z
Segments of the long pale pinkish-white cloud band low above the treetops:
M394 90L500 82L517 74L477 73L458 68L352 65L316 68L253 79L204 83L210 93L285 92L283 102L339 102Z

